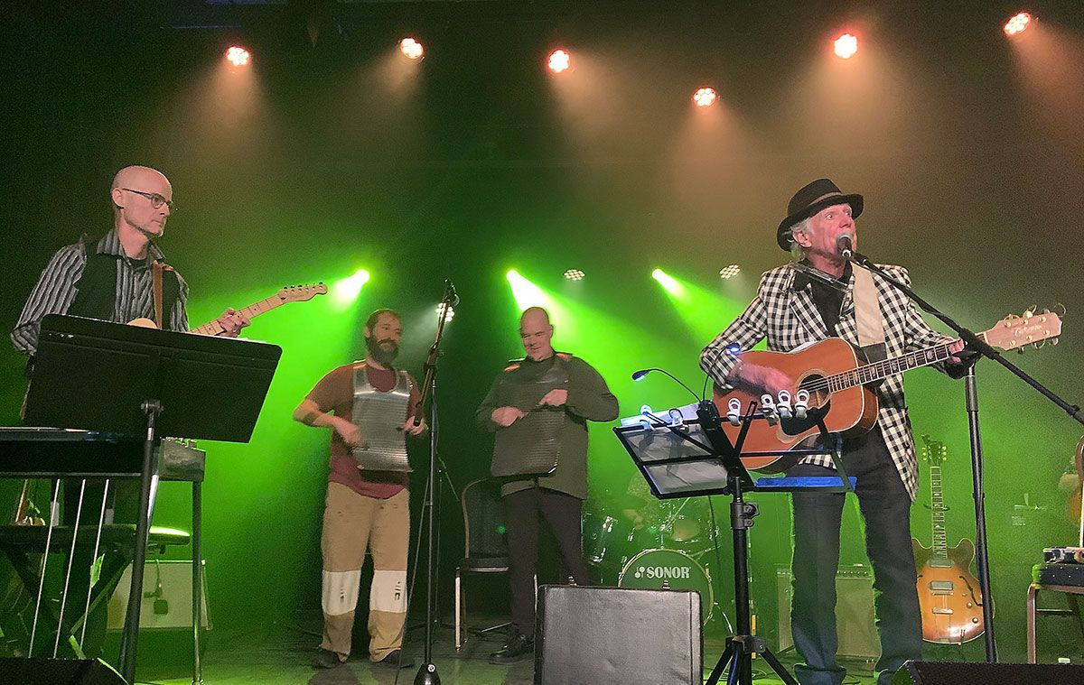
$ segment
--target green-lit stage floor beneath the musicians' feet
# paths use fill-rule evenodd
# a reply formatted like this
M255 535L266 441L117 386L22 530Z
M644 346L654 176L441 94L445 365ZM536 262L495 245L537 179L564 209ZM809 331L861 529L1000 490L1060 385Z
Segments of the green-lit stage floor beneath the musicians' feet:
M482 623L485 624L485 623ZM208 685L410 685L417 674L422 661L424 632L412 630L408 635L406 651L414 658L415 665L403 669L396 683L396 673L385 667L375 667L364 658L351 658L341 667L326 671L312 668L319 636L306 631L319 630L319 625L287 626L271 624L247 634L225 635L216 632L210 636L204 657L204 682ZM463 683L469 685L529 685L533 683L532 660L513 665L489 663L489 654L499 648L498 636L474 637L460 652L453 647L453 632L442 628L434 642L434 662L441 683ZM705 676L722 652L722 643L715 639L705 644ZM792 652L780 659L792 664ZM872 684L872 664L844 663L848 668L847 685ZM763 672L766 664L754 662L754 671ZM159 685L188 685L192 683L191 670L177 664L168 668L153 663L151 655L141 655L138 683ZM758 683L774 685L782 683L777 677L762 675Z

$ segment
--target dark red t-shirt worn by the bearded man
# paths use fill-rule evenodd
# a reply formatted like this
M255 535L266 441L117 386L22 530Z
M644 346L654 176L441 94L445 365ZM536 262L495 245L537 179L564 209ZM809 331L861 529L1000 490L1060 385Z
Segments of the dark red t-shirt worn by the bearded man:
M346 364L328 372L312 388L307 399L314 402L321 412L334 412L336 416L350 421L353 417L353 367L354 364ZM389 392L396 387L396 372L390 369L366 365L365 373L369 383L380 392ZM410 380L410 415L414 416L421 396L414 378L410 374L406 374L406 378ZM332 430L332 461L327 480L341 483L366 497L386 500L410 484L410 474L359 469L350 448L338 431Z

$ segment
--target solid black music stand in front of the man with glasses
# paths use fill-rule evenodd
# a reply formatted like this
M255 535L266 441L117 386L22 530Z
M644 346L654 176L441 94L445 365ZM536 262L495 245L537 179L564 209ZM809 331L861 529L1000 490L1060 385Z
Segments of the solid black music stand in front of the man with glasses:
M248 442L281 356L280 347L250 340L60 314L41 322L25 422L143 436L140 510L120 649L120 674L129 683L136 675L158 436Z

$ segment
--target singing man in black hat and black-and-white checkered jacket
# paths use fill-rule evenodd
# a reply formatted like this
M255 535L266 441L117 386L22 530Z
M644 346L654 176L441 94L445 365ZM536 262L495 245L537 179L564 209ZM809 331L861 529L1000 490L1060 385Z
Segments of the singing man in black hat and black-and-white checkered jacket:
M789 352L827 337L843 338L868 361L896 357L945 341L930 328L914 305L878 275L852 267L841 254L857 241L854 220L862 195L843 193L829 179L817 179L790 198L776 242L795 261L761 277L757 297L700 356L700 366L724 389L741 386L758 395L795 391L780 371L743 363L740 352L767 338L767 348ZM841 238L840 236L847 236ZM903 267L882 264L893 277L909 283ZM963 342L952 350L958 352ZM962 375L959 359L943 367ZM911 436L903 378L890 376L877 388L877 425L868 432L838 437L848 474L865 520L866 551L874 567L877 626L881 657L878 683L907 659L921 657L922 632L911 547L911 504L918 467ZM788 476L835 475L826 455L802 457ZM793 494L793 600L791 632L803 662L795 667L803 685L838 685L846 671L836 662L836 569L844 495Z

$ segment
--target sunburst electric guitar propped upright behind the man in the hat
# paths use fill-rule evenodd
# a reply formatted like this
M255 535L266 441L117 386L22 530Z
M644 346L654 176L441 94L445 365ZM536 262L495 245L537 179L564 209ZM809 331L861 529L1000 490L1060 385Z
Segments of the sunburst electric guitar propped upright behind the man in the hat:
M922 616L922 639L929 643L958 645L970 642L986 630L982 620L982 592L971 573L975 543L960 539L950 547L945 533L945 505L941 496L941 464L945 461L943 442L922 436L922 458L930 465L930 546L911 539L918 569L918 606Z

